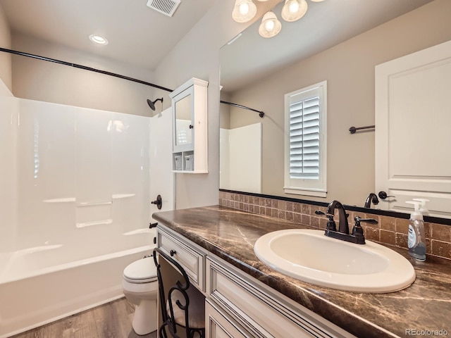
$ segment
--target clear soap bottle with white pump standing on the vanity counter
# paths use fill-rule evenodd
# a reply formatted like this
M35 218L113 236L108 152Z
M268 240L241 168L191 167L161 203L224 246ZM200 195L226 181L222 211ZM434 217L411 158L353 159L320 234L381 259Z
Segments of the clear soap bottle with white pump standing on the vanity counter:
M418 261L426 261L426 237L424 233L424 220L420 210L426 210L426 201L407 201L414 205L414 211L410 214L409 234L407 246L409 255ZM421 206L421 208L420 208Z

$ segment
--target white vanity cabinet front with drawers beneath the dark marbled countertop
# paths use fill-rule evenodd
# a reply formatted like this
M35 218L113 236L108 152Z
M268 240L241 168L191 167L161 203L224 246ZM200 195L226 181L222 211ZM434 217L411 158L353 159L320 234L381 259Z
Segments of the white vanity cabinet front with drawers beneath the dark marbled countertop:
M206 295L206 337L354 337L168 227L158 232L159 247L176 251Z

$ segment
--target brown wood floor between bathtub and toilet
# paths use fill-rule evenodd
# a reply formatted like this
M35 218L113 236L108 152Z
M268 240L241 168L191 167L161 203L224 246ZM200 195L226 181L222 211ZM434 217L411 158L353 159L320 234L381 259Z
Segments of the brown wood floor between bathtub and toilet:
M11 338L156 338L132 329L134 306L125 298L56 320Z

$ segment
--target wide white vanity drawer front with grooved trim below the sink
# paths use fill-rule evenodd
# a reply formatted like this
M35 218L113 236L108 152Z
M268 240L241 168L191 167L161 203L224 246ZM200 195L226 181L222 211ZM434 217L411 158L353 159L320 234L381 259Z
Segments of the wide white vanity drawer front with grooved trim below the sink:
M217 261L216 261L217 260ZM280 299L256 287L244 274L220 258L206 259L206 294L242 324L253 337L350 337L328 330L312 320L308 310L285 306ZM300 306L299 306L300 307ZM311 312L311 311L310 311Z

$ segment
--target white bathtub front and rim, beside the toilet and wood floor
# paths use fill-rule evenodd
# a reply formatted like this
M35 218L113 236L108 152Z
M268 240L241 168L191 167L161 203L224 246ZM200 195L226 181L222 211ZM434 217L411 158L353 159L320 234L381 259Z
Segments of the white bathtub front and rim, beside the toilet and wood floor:
M71 254L64 251L61 247L52 254ZM0 283L0 337L123 297L123 268L151 253L147 245L35 270L30 277Z

